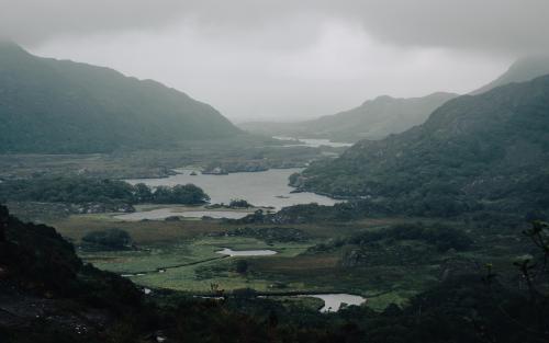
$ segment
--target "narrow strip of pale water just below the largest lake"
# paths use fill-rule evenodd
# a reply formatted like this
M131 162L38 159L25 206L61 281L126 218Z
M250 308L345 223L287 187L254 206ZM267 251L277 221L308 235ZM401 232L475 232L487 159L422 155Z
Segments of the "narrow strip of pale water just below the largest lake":
M247 211L235 211L235 210L178 210L177 207L173 208L158 208L152 210L134 211L131 214L123 214L114 216L115 219L126 220L126 221L139 221L143 219L148 220L161 220L168 217L187 217L187 218L202 218L204 216L211 218L227 218L227 219L240 219L249 215Z

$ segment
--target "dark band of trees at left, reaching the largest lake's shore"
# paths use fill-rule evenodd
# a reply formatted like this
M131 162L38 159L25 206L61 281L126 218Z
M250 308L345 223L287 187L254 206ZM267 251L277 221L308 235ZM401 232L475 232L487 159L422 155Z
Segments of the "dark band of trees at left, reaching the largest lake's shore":
M210 197L193 185L131 185L124 181L86 176L37 176L0 183L0 199L48 203L204 204Z

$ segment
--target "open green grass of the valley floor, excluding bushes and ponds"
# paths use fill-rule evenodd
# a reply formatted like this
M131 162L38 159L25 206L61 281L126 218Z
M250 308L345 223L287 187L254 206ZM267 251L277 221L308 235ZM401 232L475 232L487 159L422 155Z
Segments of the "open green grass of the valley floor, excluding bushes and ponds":
M519 235L513 232L473 232L473 249L437 253L428 250L429 247L423 243L403 241L400 245L391 243L391 247L396 249L385 251L386 248L377 248L381 256L386 254L385 262L382 259L381 262L376 260L374 263L357 266L345 266L341 263L345 253L354 249L352 247L307 251L311 247L329 244L357 232L415 221L417 220L414 218L372 218L347 224L280 226L282 229L293 228L306 233L305 240L289 242L265 240L261 237L226 236L226 232L239 226L221 220L121 221L112 215L102 214L74 215L57 218L48 224L79 247L78 253L85 261L120 274L139 274L128 277L144 287L205 295L211 294L212 284L219 285L219 289L225 291L253 288L261 294L278 295L347 293L368 298L368 306L377 310L382 310L391 302L403 305L411 296L439 282L444 265L448 261L474 260L479 268L490 262L500 271L508 270L512 259L519 255L517 244L523 243ZM136 249L101 251L80 247L81 238L86 233L109 228L126 230L132 236ZM223 248L269 249L277 251L277 254L229 258L216 253ZM394 263L392 255L400 249L411 250L419 258L411 263ZM513 251L517 251L515 255ZM423 258L424 255L428 258ZM238 260L246 260L246 273L236 272ZM284 301L295 302L292 297ZM318 305L317 301L322 300L311 300L313 307Z

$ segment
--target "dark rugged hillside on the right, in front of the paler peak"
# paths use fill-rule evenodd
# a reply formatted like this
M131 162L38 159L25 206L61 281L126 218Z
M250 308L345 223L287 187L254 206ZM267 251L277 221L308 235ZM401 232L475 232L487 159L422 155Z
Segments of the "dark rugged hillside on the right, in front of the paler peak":
M386 202L396 211L452 215L549 208L549 76L463 95L427 122L361 140L293 183Z

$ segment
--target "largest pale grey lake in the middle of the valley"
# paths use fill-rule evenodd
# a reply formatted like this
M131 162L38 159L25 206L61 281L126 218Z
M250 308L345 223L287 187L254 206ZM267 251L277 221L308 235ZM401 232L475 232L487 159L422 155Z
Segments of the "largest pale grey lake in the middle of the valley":
M211 204L228 204L232 199L246 199L258 207L272 206L280 209L285 206L317 203L334 205L338 201L314 193L291 193L294 188L288 185L291 174L302 171L300 168L270 169L261 172L231 173L228 175L198 174L191 175L193 170L179 169L180 174L163 179L133 179L126 180L131 184L145 183L149 186L175 186L192 183L210 195ZM214 211L204 211L212 216ZM135 215L135 214L133 214ZM125 215L124 215L125 216Z

